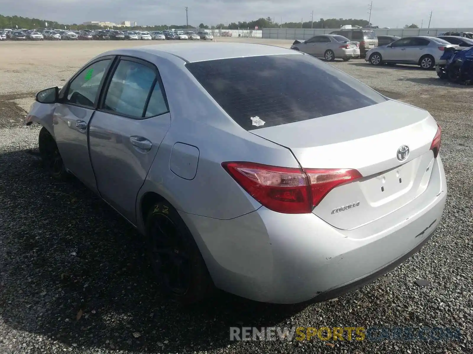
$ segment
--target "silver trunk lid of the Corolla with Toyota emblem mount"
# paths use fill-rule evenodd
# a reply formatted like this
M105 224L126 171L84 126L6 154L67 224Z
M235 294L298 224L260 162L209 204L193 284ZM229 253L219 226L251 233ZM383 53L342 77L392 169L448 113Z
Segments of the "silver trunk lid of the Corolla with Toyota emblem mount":
M304 169L358 170L362 178L333 188L313 209L334 227L350 229L401 208L426 190L436 131L427 111L390 100L251 132L289 148ZM402 146L409 148L404 160L397 157Z

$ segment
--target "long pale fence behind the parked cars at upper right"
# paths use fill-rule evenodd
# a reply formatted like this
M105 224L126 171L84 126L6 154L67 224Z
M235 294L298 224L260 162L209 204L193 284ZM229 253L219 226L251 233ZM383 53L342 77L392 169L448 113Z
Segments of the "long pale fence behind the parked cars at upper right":
M316 34L329 34L340 28L263 28L262 38L270 39L309 39ZM225 30L224 30L225 31ZM436 36L443 32L473 32L473 28L374 28L377 35L406 36Z

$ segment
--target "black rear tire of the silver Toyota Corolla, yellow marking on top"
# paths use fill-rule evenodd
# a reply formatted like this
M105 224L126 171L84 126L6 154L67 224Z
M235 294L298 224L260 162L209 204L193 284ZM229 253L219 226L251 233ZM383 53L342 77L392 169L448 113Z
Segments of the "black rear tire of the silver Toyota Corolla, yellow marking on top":
M168 202L157 202L146 221L146 249L151 267L166 297L197 303L213 290L213 282L194 238Z

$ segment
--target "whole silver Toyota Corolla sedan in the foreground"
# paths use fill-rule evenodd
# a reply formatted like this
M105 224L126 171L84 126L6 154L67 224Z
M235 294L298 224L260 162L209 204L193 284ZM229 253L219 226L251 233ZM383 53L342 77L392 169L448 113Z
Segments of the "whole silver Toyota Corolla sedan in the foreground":
M164 293L324 300L430 238L447 185L429 112L298 51L196 44L105 52L26 116L51 175L146 236Z

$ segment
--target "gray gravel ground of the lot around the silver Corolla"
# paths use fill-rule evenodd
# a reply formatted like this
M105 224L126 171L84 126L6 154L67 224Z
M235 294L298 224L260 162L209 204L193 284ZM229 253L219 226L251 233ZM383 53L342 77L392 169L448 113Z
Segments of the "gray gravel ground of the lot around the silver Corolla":
M36 91L61 85L101 51L138 44L0 42L0 354L473 352L472 88L441 83L435 72L416 67L334 63L391 98L428 109L442 126L449 195L432 240L384 277L335 301L280 306L221 294L184 308L159 295L141 237L126 221L79 182L45 176L39 127L22 126ZM419 287L418 278L431 283ZM330 342L334 347L318 339L228 339L230 326L292 325L440 326L462 335L456 341Z

